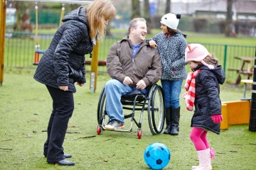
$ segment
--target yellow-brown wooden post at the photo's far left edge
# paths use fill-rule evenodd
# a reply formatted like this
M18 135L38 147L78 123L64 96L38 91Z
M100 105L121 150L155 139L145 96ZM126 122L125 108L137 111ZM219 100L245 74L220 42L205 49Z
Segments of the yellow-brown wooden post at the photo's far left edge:
M6 0L0 0L0 86L4 81L4 41L6 31Z

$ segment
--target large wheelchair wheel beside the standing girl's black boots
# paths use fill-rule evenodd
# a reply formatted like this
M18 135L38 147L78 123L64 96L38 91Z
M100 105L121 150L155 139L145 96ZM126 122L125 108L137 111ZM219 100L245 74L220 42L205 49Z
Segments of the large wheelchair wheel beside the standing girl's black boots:
M149 91L149 128L153 135L164 129L164 97L161 86L154 84Z

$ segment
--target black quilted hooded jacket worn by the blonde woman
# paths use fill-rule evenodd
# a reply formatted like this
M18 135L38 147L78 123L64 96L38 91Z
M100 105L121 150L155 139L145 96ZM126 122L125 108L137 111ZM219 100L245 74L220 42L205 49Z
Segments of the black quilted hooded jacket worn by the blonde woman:
M75 82L68 76L68 65L82 71L82 79L78 83L84 84L85 54L92 52L89 34L85 8L77 8L64 16L63 25L58 28L48 50L41 58L34 79L55 88L68 86L68 91L75 92Z

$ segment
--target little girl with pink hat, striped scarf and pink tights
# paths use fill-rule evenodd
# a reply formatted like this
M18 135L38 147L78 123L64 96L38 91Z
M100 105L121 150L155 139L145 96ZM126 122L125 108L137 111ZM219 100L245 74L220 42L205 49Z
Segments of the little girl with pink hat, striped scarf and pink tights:
M220 134L221 115L220 86L225 81L225 74L218 60L210 55L201 44L190 44L185 50L185 60L193 72L188 73L183 97L188 111L195 111L191 120L191 140L198 153L199 166L193 170L212 169L210 159L214 150L210 148L207 132Z

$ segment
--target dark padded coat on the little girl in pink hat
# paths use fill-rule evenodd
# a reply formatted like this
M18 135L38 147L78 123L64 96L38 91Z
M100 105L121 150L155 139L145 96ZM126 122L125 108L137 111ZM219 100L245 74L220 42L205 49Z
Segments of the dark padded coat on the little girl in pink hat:
M191 127L203 128L220 134L220 123L213 123L211 116L221 114L219 84L224 83L225 74L221 66L208 69L200 65L196 69L201 69L201 72L196 76L195 111Z

